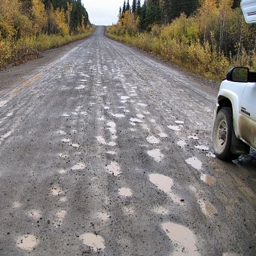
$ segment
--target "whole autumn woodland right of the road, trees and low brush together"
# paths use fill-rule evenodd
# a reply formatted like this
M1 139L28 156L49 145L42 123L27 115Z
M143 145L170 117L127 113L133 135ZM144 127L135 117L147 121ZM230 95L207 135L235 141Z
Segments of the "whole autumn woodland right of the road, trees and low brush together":
M239 0L126 0L108 36L206 78L256 69L256 24L245 23Z

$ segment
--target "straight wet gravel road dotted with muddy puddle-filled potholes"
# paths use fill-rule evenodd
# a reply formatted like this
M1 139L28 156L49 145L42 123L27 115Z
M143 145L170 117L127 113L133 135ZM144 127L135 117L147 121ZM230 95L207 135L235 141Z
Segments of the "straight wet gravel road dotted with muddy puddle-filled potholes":
M218 88L104 27L72 45L0 72L0 254L255 255L256 155L212 154Z

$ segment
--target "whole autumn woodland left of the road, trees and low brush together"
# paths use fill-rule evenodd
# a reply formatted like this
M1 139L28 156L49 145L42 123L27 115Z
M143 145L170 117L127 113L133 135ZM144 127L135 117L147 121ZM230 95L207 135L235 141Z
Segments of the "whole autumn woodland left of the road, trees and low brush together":
M91 31L81 0L1 0L0 69Z

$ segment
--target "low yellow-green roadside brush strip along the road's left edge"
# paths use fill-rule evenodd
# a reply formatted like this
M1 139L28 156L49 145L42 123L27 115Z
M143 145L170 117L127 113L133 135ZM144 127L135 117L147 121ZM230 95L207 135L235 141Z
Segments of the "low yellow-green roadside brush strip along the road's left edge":
M0 41L0 69L9 64L20 64L29 59L35 59L44 50L50 50L87 38L93 28L87 29L78 35L39 35L38 37L21 38L15 44L10 41Z

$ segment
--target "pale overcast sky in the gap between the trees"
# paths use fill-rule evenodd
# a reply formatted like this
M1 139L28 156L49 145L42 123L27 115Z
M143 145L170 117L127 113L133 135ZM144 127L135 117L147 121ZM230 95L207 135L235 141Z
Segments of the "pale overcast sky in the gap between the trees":
M119 8L123 8L123 0L82 0L82 2L89 14L90 23L95 25L117 23ZM143 2L144 0L141 0L141 3ZM129 3L132 6L133 0L130 0Z

